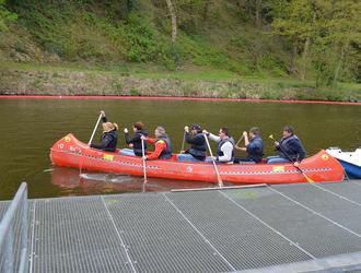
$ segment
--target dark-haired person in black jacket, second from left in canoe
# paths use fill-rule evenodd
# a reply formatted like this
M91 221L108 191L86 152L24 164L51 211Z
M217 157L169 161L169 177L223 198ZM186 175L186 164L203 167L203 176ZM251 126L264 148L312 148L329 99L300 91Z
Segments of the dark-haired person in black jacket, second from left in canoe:
M144 124L141 121L135 122L132 126L135 134L130 138L128 128L124 129L126 143L130 149L121 149L123 155L137 155L142 156L141 135L148 136L148 132L144 130ZM144 141L144 153L147 151L147 141Z

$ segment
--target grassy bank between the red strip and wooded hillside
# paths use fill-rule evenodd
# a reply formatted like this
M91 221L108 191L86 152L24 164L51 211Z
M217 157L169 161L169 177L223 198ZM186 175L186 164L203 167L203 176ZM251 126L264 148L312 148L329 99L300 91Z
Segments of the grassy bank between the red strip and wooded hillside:
M191 71L194 70L194 71ZM80 68L2 63L1 95L118 95L361 102L360 84L337 90L312 81L240 76L219 70L160 71L159 68Z

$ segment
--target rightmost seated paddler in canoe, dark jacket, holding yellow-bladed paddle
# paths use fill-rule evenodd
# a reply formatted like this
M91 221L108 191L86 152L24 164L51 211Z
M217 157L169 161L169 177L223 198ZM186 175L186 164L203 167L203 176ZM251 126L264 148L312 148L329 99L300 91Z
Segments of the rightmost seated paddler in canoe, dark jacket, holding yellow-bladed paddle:
M268 156L267 163L292 162L295 165L299 165L299 163L301 163L301 161L306 156L306 151L304 150L299 138L294 134L291 126L283 127L282 135L283 138L279 142L275 141L278 155Z

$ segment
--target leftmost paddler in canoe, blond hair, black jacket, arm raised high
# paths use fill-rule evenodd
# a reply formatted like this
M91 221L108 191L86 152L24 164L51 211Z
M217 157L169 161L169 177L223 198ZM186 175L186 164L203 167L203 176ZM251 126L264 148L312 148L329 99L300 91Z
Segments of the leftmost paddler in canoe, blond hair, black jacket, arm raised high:
M102 127L103 127L103 134L102 134L102 143L101 144L91 144L91 147L95 147L98 150L103 150L106 152L115 152L118 142L118 126L117 123L107 121L105 112L102 110Z

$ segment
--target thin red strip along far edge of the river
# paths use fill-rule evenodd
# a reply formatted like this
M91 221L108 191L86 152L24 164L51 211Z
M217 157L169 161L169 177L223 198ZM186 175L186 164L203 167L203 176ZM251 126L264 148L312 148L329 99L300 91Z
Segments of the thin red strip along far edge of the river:
M225 97L186 97L186 96L71 96L71 95L0 95L0 99L149 99L149 100L198 100L198 102L244 102L244 103L282 103L282 104L322 104L322 105L361 105L361 102L296 100L267 98L225 98Z

